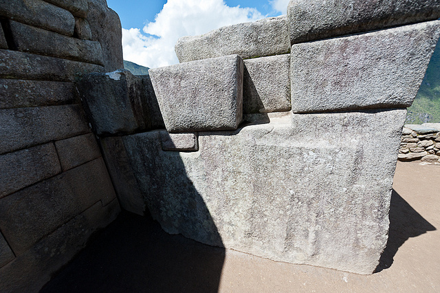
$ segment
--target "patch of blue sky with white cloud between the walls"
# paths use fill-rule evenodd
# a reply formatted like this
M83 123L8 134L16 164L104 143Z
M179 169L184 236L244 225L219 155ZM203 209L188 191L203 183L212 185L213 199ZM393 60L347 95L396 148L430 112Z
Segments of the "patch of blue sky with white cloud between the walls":
M107 0L122 23L124 60L146 67L179 63L174 45L224 25L286 13L289 0Z

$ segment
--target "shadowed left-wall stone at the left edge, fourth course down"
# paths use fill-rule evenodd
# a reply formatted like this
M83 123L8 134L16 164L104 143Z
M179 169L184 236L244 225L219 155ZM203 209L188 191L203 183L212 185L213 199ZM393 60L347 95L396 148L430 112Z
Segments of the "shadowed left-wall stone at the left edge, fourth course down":
M0 78L0 109L74 104L74 83Z

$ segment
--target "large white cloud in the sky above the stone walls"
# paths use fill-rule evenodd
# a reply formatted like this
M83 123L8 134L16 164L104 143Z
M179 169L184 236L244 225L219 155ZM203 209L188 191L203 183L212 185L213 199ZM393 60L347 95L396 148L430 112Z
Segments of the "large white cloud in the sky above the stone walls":
M229 7L223 0L168 0L143 32L122 29L124 60L151 68L179 63L174 45L181 36L262 18L255 8Z

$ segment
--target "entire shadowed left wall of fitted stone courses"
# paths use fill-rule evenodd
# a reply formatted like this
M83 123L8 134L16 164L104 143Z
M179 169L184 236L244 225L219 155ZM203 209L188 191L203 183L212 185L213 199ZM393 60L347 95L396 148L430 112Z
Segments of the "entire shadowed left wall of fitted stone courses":
M37 292L120 211L74 82L122 67L104 0L0 1L0 292Z

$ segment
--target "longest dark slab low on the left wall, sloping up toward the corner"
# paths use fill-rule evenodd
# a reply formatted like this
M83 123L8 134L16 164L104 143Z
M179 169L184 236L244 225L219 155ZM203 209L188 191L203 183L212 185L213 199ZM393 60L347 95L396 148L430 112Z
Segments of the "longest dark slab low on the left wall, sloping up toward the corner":
M105 206L115 197L97 159L0 199L0 228L19 256L96 202Z

